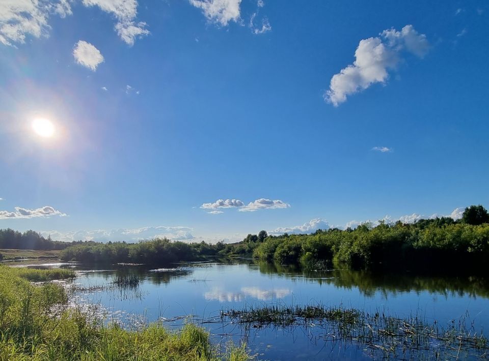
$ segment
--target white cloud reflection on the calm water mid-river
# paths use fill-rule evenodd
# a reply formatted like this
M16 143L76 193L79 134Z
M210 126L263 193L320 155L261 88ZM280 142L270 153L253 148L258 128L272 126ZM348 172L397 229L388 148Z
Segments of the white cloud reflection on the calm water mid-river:
M226 292L215 288L204 293L204 298L208 301L219 302L241 302L246 297L253 297L261 301L270 299L284 298L290 294L287 288L264 290L258 287L242 287L239 292Z

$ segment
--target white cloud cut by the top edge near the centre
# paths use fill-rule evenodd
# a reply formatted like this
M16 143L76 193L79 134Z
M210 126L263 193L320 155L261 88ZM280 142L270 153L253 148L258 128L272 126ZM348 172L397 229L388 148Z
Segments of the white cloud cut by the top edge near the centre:
M209 21L223 26L230 21L239 21L241 0L189 0L189 2L196 8L202 9Z

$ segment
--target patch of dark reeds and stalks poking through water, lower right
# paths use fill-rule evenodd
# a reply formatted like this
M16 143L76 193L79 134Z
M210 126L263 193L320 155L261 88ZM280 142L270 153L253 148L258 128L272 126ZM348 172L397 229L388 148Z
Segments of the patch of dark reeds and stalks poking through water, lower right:
M260 306L221 312L221 320L252 328L294 327L320 329L318 339L332 346L355 344L374 358L471 359L486 358L489 342L476 332L469 315L445 327L424 317L398 318L376 312L324 306Z

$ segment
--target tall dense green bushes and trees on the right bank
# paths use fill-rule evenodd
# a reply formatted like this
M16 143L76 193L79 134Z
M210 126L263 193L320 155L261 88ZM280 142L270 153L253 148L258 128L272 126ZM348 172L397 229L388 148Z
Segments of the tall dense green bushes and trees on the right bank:
M313 234L268 236L253 255L280 264L308 267L345 264L354 268L485 269L489 257L489 214L479 206L460 220L422 219L414 224L362 224Z

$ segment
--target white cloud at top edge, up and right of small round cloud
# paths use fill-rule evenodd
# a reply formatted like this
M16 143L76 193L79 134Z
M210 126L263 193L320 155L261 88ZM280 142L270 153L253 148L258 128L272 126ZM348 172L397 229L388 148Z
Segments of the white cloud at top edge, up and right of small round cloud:
M98 6L102 11L113 14L118 22L115 30L128 45L133 45L136 38L149 34L145 22L136 22L138 2L136 0L83 0L87 7Z

